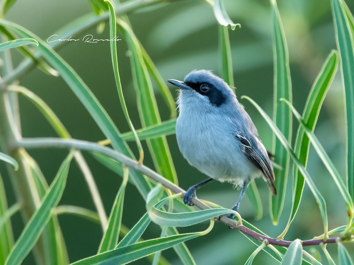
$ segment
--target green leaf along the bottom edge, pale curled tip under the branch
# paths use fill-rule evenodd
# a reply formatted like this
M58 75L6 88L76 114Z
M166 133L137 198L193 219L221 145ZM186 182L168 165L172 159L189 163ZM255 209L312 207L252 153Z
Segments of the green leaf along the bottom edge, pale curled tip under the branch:
M210 232L213 227L213 220L209 228L202 232L181 234L176 236L169 236L164 238L155 238L146 240L133 245L116 248L114 250L104 252L90 258L77 261L72 264L76 265L99 265L99 264L126 264L133 260L143 258L147 255L162 251L164 249L173 247L184 241L202 236Z

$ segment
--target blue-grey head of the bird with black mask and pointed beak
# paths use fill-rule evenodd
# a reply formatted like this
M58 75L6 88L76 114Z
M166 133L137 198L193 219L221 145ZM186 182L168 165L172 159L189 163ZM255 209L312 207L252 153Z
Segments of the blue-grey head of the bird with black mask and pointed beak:
M213 110L227 105L235 99L235 94L228 84L208 70L193 70L184 78L184 82L169 79L179 88L177 105L180 108L207 108Z

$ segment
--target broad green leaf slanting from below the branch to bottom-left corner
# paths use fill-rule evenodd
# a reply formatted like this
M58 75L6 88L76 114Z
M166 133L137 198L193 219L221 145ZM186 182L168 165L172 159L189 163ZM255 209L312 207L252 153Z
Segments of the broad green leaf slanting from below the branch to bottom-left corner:
M52 215L52 209L57 206L61 199L72 158L73 153L70 152L42 199L39 208L33 213L33 216L26 224L15 246L11 249L5 264L20 264L37 242L41 232Z

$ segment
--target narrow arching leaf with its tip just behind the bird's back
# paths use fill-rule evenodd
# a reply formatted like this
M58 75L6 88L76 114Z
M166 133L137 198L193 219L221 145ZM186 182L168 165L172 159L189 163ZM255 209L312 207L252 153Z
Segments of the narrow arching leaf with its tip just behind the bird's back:
M242 96L241 98L245 98L245 99L249 100L252 103L252 105L257 108L258 112L261 113L261 115L263 116L265 121L269 124L270 128L272 128L276 137L278 137L281 144L285 147L286 151L289 153L289 155L292 158L292 160L294 161L294 163L298 166L298 168L299 168L300 172L302 173L302 175L304 176L311 192L315 196L316 202L317 202L320 212L321 212L325 235L327 235L327 233L328 233L328 218L327 218L326 202L325 202L324 198L322 197L322 195L320 194L320 192L318 191L318 189L316 188L315 183L312 181L312 178L310 177L309 173L306 171L304 166L301 164L301 162L297 158L296 154L293 152L293 150L292 150L289 142L286 140L285 136L281 133L279 128L274 124L272 119L269 118L267 113L265 113L262 110L262 108L259 107L258 104L255 101L253 101L252 99L250 99L249 97Z

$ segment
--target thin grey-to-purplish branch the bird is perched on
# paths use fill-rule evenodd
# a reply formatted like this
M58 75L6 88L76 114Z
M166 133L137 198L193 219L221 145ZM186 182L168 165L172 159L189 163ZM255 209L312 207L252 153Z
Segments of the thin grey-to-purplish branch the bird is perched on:
M162 184L164 187L170 189L174 193L185 193L185 190L182 188L178 187L176 184L170 182L166 178L162 177L152 169L149 169L148 167L144 165L138 165L138 162L126 157L125 155L118 153L114 151L113 149L105 146L100 146L97 143L93 142L87 142L87 141L82 141L82 140L74 140L74 139L58 139L58 138L24 138L22 140L19 140L17 142L17 146L14 146L13 148L18 148L18 147L23 147L23 148L28 148L28 149L36 149L36 148L65 148L65 149L80 149L80 150L86 150L86 151L95 151L95 152L100 152L104 155L107 155L107 157L113 158L120 163L130 167L131 169L135 169L147 177L153 179L154 181ZM204 204L201 200L197 198L192 198L192 203L198 207L200 210L206 210L210 209L209 206ZM244 225L237 226L236 222L234 220L231 220L225 216L222 216L219 218L219 221L228 225L230 228L235 228L239 230L240 232L249 235L253 238L255 238L258 241L263 242L263 240L267 239L269 244L271 245L276 245L276 246L283 246L283 247L289 247L290 244L292 243L291 241L285 241L285 240L277 240L276 238L272 237L267 237L262 234L257 233L256 231L253 231L252 229L247 228ZM303 246L313 246L313 245L320 245L321 243L336 243L337 239L340 239L341 237L331 237L324 241L323 239L310 239L310 240L304 240L302 241Z

